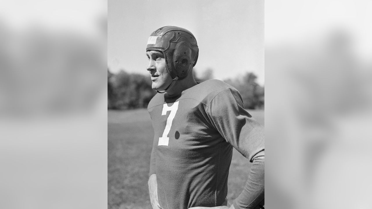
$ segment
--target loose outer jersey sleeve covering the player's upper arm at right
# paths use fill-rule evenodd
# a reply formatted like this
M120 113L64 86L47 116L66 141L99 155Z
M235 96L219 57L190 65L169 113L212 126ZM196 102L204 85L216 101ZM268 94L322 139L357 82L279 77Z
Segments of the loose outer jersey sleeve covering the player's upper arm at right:
M244 109L239 92L225 89L206 107L212 126L250 162L264 150L264 128Z

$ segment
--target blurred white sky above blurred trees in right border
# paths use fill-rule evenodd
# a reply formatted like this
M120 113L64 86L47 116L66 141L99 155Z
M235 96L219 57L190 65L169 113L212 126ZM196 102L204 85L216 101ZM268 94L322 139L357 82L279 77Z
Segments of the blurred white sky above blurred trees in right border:
M371 7L372 1L368 0L271 1L265 5L265 45L304 42L342 30L352 38L357 58L370 62Z

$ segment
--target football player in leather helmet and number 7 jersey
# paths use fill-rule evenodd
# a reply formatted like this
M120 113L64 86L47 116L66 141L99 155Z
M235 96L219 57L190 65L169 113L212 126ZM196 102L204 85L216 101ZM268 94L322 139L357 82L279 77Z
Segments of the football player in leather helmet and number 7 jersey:
M148 181L153 208L227 209L233 147L253 165L230 208L263 205L263 127L244 110L238 91L219 80L194 80L199 48L186 29L155 30L146 54L152 88L158 92L148 104L154 128Z

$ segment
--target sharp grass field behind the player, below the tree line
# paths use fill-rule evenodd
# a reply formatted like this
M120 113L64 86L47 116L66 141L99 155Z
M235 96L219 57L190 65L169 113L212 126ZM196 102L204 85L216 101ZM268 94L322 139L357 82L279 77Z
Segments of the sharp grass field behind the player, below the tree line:
M263 110L248 110L264 125ZM108 112L108 208L150 209L148 171L154 137L146 109ZM250 163L234 149L228 180L231 203L243 189Z

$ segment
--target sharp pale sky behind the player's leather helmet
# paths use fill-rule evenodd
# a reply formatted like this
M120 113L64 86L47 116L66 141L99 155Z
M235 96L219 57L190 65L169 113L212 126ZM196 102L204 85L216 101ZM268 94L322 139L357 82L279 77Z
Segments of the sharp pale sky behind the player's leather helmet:
M210 68L214 78L224 80L253 72L264 84L264 1L109 0L109 70L148 74L148 36L168 25L195 36L197 75Z

